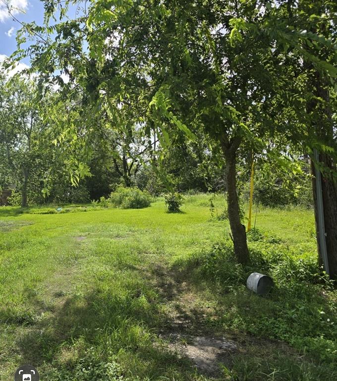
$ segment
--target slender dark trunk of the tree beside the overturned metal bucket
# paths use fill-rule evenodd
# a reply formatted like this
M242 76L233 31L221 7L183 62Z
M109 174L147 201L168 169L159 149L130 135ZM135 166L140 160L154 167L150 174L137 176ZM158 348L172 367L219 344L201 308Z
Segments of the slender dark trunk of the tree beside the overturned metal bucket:
M226 161L227 203L230 230L232 233L234 253L239 263L249 260L246 228L241 224L239 200L236 191L236 153L224 150Z

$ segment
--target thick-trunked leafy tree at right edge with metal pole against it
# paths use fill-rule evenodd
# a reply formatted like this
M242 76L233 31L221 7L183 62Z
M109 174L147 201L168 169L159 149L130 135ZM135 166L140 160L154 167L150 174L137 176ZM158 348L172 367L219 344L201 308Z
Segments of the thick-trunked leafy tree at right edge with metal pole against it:
M325 241L331 278L337 279L337 141L336 120L336 1L280 1L271 9L271 16L282 27L278 46L292 55L293 70L302 78L305 98L300 123L306 128L292 135L292 141L303 144L302 150L311 157L313 194L317 236L319 236L316 170L321 172ZM285 27L286 26L286 27ZM285 39L284 31L292 33ZM291 38L289 38L291 37ZM318 152L318 159L314 151ZM322 264L322 247L318 242Z

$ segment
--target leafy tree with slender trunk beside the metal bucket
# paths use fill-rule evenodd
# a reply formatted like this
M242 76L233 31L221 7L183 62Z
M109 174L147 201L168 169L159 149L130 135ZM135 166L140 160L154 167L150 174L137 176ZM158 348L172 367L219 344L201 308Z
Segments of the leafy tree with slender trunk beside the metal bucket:
M61 14L63 4L58 3ZM180 132L187 140L198 132L207 136L225 159L234 252L245 263L249 252L240 221L237 159L243 150L273 153L268 143L275 134L302 136L303 83L297 81L295 64L287 65L296 60L285 45L323 66L303 49L303 41L317 41L317 35L294 33L284 23L286 2L280 4L100 0L76 20L44 29L25 25L18 42L25 42L25 32L38 35L29 48L35 69L46 78L55 70L69 73L70 84L84 89L91 110L104 102L112 115L132 110L133 120L138 118L148 136L154 131L162 146ZM47 7L47 20L54 11Z

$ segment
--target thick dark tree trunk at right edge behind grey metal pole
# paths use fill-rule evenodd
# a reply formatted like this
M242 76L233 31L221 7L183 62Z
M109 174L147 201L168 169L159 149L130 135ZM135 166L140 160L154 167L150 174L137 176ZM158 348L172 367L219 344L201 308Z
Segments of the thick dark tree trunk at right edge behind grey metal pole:
M313 98L309 102L307 110L311 116L316 116L316 134L317 137L326 145L331 145L334 141L334 130L332 123L332 112L330 108L330 97L328 86L324 84L324 80L318 72L312 77L312 86L316 97L323 99L324 104L319 104L317 99ZM324 167L321 174L322 197L323 197L323 213L325 224L325 237L328 254L329 273L332 279L337 279L337 183L333 173L336 172L336 163L333 158L325 153L319 154L319 162ZM315 175L315 168L311 164L312 174ZM316 178L313 178L313 195L315 206L316 234L318 238L318 218L317 218L317 194L316 194ZM322 248L318 242L319 263L323 263Z

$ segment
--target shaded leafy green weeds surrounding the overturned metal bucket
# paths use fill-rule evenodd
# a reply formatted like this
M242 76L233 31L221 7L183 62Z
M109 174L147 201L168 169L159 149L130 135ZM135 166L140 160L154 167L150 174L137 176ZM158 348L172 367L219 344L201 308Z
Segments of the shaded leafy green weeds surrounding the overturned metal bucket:
M224 308L234 308L236 295L241 295L236 305L238 313L226 313L222 324L285 341L330 363L337 353L337 347L331 341L331 334L333 337L337 335L335 328L331 332L336 306L327 305L322 310L320 292L334 293L334 283L322 272L314 257L296 256L282 245L266 245L264 241L262 245L250 246L251 262L243 267L235 264L232 243L225 241L213 245L207 253L191 257L187 266L198 268L200 275L197 279L208 279L208 283L216 285L221 293L229 293ZM265 299L253 302L256 305L247 313L244 306L251 303L254 296L244 291L241 285L254 271L270 275L276 288Z

